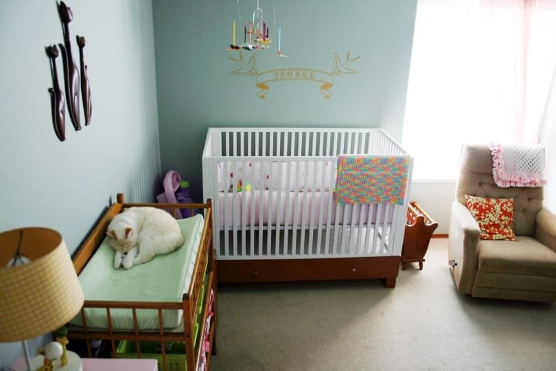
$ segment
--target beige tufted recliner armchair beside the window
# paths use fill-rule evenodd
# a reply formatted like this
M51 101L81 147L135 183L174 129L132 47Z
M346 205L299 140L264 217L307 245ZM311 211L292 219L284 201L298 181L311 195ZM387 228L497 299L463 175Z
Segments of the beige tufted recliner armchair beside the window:
M465 194L513 199L518 241L480 240ZM542 199L542 187L496 186L489 148L463 146L448 238L448 260L460 293L556 302L556 216L542 207Z

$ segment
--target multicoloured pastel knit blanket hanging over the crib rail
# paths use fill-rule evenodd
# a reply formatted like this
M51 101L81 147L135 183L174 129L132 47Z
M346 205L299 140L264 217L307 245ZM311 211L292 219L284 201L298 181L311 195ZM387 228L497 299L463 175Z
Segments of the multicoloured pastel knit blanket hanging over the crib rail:
M397 203L406 198L409 157L339 155L336 201L341 204Z

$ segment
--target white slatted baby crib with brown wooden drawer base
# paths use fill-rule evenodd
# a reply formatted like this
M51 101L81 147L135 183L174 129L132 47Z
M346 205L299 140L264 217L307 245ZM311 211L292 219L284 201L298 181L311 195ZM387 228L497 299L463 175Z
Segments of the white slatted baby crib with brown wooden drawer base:
M404 157L403 205L336 202L338 155ZM395 286L413 157L380 129L209 128L202 188L220 282L382 278Z

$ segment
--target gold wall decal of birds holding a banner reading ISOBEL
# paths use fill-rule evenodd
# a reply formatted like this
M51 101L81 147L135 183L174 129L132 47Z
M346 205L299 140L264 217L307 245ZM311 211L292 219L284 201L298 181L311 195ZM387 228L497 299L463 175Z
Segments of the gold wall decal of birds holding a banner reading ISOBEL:
M332 71L323 71L321 69L312 68L285 68L270 69L268 71L259 72L257 70L257 60L255 54L251 54L248 59L243 57L239 52L238 58L229 57L239 66L231 73L240 76L255 76L255 86L259 88L257 97L265 99L268 91L270 91L270 83L277 81L303 80L308 82L316 82L324 99L332 96L332 87L334 87L334 76L358 74L358 71L351 67L359 59L359 56L351 57L351 53L347 52L345 60L342 60L338 54L334 53L334 68Z

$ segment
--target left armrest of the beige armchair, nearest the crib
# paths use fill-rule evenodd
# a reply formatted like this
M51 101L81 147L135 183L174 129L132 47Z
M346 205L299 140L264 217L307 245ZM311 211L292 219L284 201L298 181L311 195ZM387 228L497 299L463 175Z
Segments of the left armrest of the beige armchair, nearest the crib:
M480 228L465 205L452 202L448 231L448 258L454 260L452 273L458 291L471 293L478 265Z

